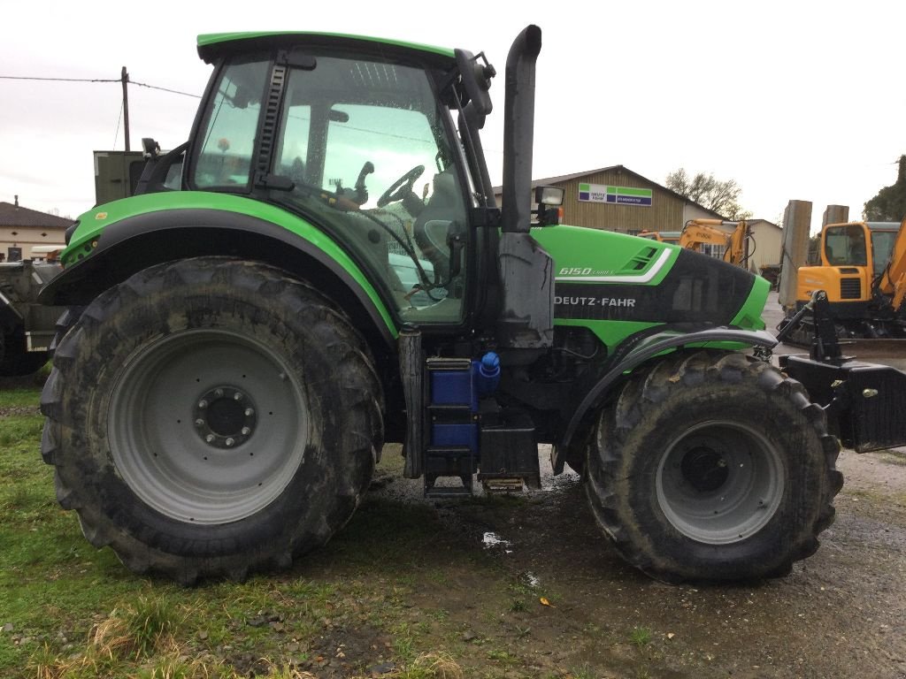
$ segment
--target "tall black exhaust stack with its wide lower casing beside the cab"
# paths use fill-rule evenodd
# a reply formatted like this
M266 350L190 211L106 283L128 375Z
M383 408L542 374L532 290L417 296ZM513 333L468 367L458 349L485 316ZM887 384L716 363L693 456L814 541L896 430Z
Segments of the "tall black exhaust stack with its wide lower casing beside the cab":
M544 349L554 339L554 261L529 233L539 52L541 29L530 25L516 36L506 57L502 234L497 250L503 308L497 339L512 349Z

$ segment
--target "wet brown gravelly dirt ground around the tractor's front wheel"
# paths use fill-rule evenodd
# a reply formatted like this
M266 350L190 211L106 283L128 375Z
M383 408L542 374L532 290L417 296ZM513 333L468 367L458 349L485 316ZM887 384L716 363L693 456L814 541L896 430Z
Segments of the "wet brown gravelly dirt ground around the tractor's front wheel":
M514 657L531 659L537 676L581 668L578 675L589 679L902 679L906 449L844 451L838 466L846 482L818 552L785 579L743 586L669 586L628 568L602 538L574 475L546 479L546 490L507 512L480 502L432 502L460 539L483 541L514 578L556 598L526 612L525 633L518 617L482 617L480 583L471 581L467 564L451 564L453 584L413 604L461 617L466 640L502 640ZM420 482L384 473L378 485L379 495L430 502L420 498ZM641 631L627 636L634 629ZM525 676L525 665L512 675Z

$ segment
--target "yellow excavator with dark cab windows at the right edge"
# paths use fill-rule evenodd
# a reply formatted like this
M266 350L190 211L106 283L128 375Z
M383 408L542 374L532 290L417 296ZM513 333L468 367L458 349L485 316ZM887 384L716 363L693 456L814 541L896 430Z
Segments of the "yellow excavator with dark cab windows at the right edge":
M818 262L799 268L795 307L827 294L837 335L845 338L906 337L903 298L906 296L906 219L896 222L850 222L824 226ZM811 342L813 330L803 326L792 339Z

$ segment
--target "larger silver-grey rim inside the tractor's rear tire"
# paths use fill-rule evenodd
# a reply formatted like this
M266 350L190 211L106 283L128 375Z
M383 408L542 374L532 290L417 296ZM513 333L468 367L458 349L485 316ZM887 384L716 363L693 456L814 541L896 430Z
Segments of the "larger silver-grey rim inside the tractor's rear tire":
M284 359L227 330L185 330L130 358L111 392L111 455L149 507L177 521L239 521L302 464L304 390Z

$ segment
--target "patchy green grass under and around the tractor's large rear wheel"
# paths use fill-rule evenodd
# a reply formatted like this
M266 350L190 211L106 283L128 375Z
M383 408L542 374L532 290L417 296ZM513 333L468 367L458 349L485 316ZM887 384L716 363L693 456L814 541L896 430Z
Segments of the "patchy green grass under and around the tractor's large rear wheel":
M288 573L194 589L138 577L57 504L39 454L39 391L0 387L0 676L306 679L323 663L366 676L387 662L388 679L458 679L469 651L443 641L461 636L458 617L449 604L422 614L413 598L447 588L451 563L487 583L487 607L506 611L516 598L477 540L464 549L433 508L389 500L368 502ZM500 654L499 665L520 662Z

